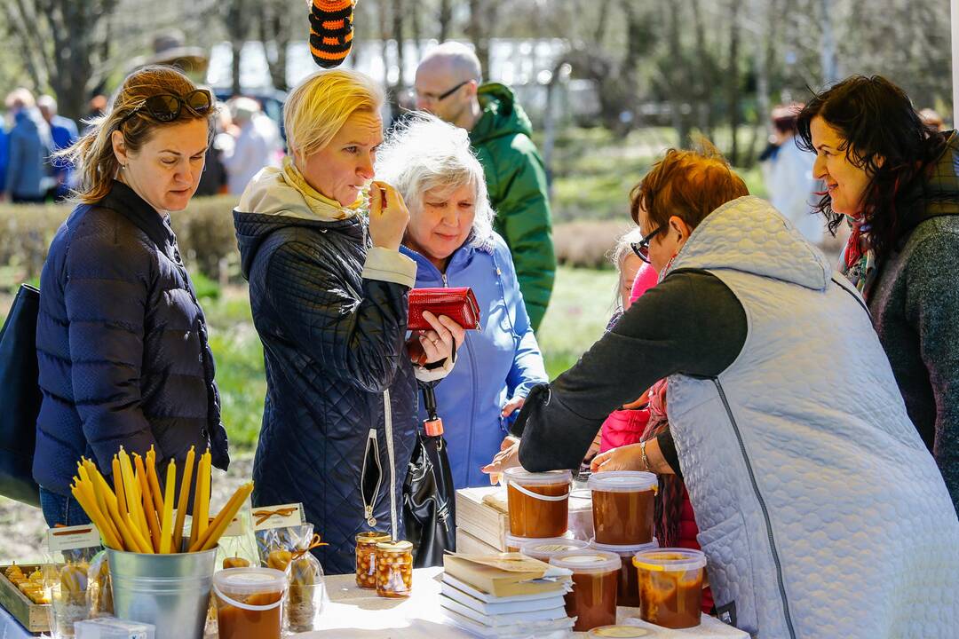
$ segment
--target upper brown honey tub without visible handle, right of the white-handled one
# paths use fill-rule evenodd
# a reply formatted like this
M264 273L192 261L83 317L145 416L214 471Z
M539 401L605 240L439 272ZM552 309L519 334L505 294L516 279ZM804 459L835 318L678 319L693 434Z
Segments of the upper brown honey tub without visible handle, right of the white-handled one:
M653 540L659 481L651 472L613 470L590 475L597 543L636 545Z

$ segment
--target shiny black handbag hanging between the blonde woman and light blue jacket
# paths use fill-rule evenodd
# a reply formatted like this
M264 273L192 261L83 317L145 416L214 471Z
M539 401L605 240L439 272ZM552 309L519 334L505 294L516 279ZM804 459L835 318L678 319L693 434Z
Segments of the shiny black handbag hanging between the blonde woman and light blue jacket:
M456 490L436 415L433 386L422 384L427 420L416 433L416 445L403 482L403 517L413 544L413 567L443 565L445 551L456 551Z

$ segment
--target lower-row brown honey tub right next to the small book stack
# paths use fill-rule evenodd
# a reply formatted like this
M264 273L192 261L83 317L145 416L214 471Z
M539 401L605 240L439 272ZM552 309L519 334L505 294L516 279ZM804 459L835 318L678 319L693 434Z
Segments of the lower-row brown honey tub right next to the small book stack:
M566 614L576 618L573 630L584 632L616 623L620 556L584 548L561 553L550 564L573 571L573 592L563 596Z

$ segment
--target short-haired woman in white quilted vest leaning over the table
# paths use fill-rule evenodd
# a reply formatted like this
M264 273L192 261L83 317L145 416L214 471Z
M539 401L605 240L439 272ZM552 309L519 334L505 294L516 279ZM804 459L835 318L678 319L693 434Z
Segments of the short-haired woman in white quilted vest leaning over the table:
M631 200L660 284L532 390L519 461L575 468L610 411L668 377L721 619L762 638L955 637L959 521L854 286L715 153L668 151ZM643 469L657 452L620 455Z

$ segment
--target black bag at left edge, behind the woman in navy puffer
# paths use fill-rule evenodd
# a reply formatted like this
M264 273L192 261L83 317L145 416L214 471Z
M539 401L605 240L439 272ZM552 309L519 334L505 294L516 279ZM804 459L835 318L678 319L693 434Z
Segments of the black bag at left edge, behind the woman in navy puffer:
M36 316L40 291L20 285L0 330L0 494L39 507L34 481L36 416L40 412Z

